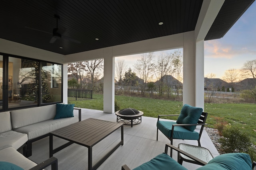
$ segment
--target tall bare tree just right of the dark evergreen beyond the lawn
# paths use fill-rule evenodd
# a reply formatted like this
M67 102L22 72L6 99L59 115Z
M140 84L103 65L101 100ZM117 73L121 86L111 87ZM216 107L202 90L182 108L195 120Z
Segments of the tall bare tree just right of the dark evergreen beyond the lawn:
M144 53L141 58L137 60L134 65L135 70L137 70L140 78L144 80L141 88L141 94L144 95L146 91L146 83L154 74L154 63L153 63L154 53Z

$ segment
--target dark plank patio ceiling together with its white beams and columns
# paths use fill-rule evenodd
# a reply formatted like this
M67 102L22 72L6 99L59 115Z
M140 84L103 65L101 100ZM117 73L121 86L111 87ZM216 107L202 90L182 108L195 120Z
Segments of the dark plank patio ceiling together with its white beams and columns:
M183 103L204 108L204 41L223 37L253 2L3 1L0 53L63 64L64 103L68 63L104 59L104 112L114 113L115 57L183 48Z

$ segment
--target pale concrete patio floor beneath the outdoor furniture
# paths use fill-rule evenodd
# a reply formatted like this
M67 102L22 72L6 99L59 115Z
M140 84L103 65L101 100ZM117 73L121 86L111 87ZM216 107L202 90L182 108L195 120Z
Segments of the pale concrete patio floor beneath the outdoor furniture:
M77 111L74 111L74 115L78 115ZM82 120L88 118L116 122L116 115L114 113L110 114L100 110L82 109ZM157 118L142 116L142 123L133 127L124 125L124 145L118 147L98 170L120 170L124 164L127 164L129 168L133 169L164 152L165 144L170 143L170 141L160 131L158 133L158 141L156 141L156 122ZM96 144L92 149L92 164L94 165L96 161L100 160L102 155L106 154L119 141L120 129ZM201 146L209 149L214 157L219 155L206 131L203 131L200 141ZM54 148L64 143L66 143L65 140L54 137ZM198 145L197 141L174 140L174 146L177 147L179 143ZM88 169L87 155L88 149L77 144L72 144L54 154L58 158L59 170ZM177 160L177 152L174 151L172 157ZM49 158L48 137L33 143L32 156L29 159L40 163L47 158ZM200 167L200 165L188 162L183 162L183 166L188 170L194 170ZM51 168L48 167L46 169L50 170Z

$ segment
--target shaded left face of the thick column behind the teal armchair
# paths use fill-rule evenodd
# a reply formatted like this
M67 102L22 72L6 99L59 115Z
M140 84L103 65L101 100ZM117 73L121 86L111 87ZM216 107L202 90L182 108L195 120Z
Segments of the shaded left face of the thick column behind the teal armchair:
M184 35L183 45L183 104L195 106L195 39L194 31Z

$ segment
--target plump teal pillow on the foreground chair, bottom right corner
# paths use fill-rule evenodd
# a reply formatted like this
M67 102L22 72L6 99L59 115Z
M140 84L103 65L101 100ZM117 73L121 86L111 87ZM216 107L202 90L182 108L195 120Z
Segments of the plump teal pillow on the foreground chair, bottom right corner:
M227 153L216 156L197 170L251 170L252 161L246 153Z

